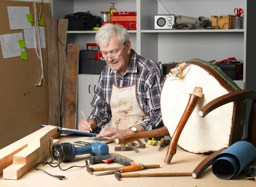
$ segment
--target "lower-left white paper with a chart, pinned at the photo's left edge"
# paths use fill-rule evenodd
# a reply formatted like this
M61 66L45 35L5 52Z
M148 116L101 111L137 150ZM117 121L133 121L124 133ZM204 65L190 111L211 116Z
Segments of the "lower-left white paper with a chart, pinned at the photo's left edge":
M20 56L21 51L25 52L24 48L20 48L18 40L23 40L22 32L0 35L3 58L11 58Z

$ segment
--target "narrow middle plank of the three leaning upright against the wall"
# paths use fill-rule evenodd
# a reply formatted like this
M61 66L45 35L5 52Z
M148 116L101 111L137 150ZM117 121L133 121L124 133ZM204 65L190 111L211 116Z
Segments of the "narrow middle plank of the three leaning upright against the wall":
M64 75L64 64L67 60L67 24L68 19L58 19L58 63L59 63L59 88L60 88L60 123L63 124L63 100L62 87L63 87L63 75Z

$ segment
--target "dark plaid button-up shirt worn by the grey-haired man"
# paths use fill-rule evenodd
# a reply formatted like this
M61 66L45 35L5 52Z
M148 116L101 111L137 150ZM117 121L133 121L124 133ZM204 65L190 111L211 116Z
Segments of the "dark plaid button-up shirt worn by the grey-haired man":
M155 129L162 125L160 91L164 81L163 74L156 62L137 55L133 49L131 52L131 61L124 75L121 76L119 71L112 71L108 65L102 70L99 86L91 102L93 111L89 117L89 119L96 120L98 129L111 121L112 83L114 82L118 87L130 86L135 83L136 74L138 101L148 116L140 122L140 125L145 130Z

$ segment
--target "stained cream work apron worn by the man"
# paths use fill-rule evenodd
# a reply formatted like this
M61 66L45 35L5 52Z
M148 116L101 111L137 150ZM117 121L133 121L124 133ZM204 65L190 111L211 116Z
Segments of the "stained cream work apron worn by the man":
M136 83L137 75L135 83L130 86L118 87L112 83L110 98L112 128L127 129L138 125L147 116L138 101Z

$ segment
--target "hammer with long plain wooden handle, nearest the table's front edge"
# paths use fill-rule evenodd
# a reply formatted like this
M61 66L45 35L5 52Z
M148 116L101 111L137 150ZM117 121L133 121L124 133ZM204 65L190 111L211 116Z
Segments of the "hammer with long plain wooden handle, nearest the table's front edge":
M192 176L192 173L114 173L117 180L122 177L183 177Z

